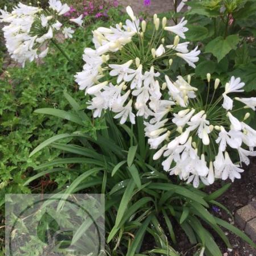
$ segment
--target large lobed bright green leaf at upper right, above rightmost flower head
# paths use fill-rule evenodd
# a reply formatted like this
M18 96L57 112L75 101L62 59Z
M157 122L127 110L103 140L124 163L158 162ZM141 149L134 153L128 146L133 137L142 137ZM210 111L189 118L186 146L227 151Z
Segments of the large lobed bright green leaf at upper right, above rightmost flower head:
M239 42L238 35L229 35L226 38L218 36L205 46L205 53L212 53L220 62L232 49L237 48Z

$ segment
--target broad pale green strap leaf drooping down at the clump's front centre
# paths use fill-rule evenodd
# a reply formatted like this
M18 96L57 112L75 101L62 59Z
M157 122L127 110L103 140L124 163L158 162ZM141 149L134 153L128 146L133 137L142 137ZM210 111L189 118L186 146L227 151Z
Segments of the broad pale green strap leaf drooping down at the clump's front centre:
M129 204L129 201L131 200L131 197L133 196L133 191L135 188L135 183L133 179L129 181L127 184L127 187L125 189L125 192L123 193L122 200L120 202L118 211L117 211L117 217L115 218L115 226L118 226L119 223L122 220L123 214L125 214L125 211L127 209L127 206Z

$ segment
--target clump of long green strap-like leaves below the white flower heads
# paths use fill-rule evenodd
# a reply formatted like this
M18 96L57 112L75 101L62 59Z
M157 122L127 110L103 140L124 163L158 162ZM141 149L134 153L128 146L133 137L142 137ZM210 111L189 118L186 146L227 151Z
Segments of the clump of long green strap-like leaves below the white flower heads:
M111 114L107 113L104 120L108 129L97 131L95 139L81 131L81 123L88 122L90 115L81 111L79 104L67 93L65 98L71 104L72 112L64 114L63 110L57 113L56 109L48 109L47 112L38 109L36 113L68 119L77 123L80 129L75 133L55 135L36 147L31 155L50 146L52 152L63 151L63 158L40 164L35 170L44 171L30 177L24 185L46 174L61 172L63 168L80 173L75 180L65 184L61 193L65 196L80 191L105 194L106 247L110 255L160 253L177 256L179 253L174 247L180 233L175 232L174 225L179 225L191 244L199 244L201 252L207 256L221 256L222 253L205 226L212 228L228 248L231 245L222 228L255 247L243 232L210 211L211 205L227 210L216 199L230 184L207 195L192 185L181 183L176 177L170 180L159 171L160 161L152 160L154 151L149 150L145 141L141 118L137 119L136 126L129 127L116 125ZM60 143L64 138L73 138L73 141ZM77 237L80 235L81 232L75 234ZM143 248L143 240L149 237L154 244L148 250Z

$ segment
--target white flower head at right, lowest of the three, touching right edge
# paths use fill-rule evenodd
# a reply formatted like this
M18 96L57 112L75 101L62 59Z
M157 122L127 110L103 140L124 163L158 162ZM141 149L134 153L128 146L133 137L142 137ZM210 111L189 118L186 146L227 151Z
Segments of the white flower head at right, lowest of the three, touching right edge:
M250 116L245 114L239 121L233 113L233 100L227 94L242 92L240 78L232 77L225 86L225 92L218 97L216 90L220 80L214 82L211 100L210 74L208 74L207 100L196 94L196 88L182 77L172 82L166 76L170 105L156 112L150 122L145 122L146 136L151 148L160 149L155 153L154 160L162 155L163 169L170 175L179 175L181 180L199 187L200 180L212 184L214 178L240 179L243 172L241 164L248 165L248 156L256 156L256 131L245 123ZM222 106L220 102L224 100ZM255 110L256 98L235 98L245 104L245 108ZM230 110L230 111L229 111ZM239 110L239 109L238 109ZM170 115L170 116L169 116ZM240 164L233 163L229 150L237 150Z

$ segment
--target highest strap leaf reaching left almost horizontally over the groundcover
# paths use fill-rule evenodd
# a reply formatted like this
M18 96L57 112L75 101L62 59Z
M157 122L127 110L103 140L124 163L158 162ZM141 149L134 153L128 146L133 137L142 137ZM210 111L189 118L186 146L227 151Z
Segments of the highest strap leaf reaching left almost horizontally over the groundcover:
M83 122L80 117L78 117L76 114L73 114L64 110L44 108L44 109L36 109L35 113L54 115L55 117L63 118L68 121L78 123L79 125L83 125Z

